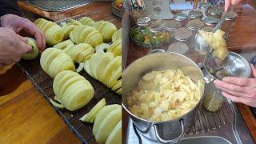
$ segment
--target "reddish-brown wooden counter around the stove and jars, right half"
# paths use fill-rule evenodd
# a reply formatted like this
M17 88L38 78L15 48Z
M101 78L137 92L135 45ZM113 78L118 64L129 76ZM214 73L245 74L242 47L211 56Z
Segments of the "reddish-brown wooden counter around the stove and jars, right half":
M227 42L230 51L242 54L248 61L256 55L256 3L248 0L242 6L242 13L238 14L238 19L234 26L234 31L230 34L230 41ZM126 16L126 14L124 14ZM134 60L141 58L148 53L147 50L142 50L130 42L130 47L126 58L126 66ZM250 111L250 107L242 103L236 103L242 118L246 122L246 126L250 130L250 134L256 141L256 119ZM123 130L127 130L128 114L123 111ZM126 134L123 133L123 142L126 140Z

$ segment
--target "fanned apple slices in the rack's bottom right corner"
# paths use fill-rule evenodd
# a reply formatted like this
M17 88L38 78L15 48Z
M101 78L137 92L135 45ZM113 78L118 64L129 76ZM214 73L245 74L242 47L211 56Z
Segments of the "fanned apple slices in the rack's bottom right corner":
M122 106L118 104L106 106L103 98L80 120L94 122L93 133L98 143L122 143Z

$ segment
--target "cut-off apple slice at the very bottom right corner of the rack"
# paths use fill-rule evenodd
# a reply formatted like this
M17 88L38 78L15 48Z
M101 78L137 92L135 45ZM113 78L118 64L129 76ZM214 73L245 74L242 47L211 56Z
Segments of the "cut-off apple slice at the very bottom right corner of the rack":
M106 139L106 144L122 144L122 120L118 122Z

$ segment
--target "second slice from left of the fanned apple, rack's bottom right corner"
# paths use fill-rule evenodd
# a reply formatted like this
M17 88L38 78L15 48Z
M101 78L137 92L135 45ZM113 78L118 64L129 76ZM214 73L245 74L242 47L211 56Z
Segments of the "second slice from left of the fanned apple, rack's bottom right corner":
M122 119L122 107L111 111L101 122L98 127L98 132L94 134L95 139L98 143L106 142L107 137L110 135L111 131L114 129L114 126Z

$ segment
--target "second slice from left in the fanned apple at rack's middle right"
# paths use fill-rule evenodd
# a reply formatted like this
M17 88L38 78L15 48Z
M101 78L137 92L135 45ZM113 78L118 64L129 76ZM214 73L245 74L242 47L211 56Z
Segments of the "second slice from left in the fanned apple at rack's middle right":
M103 54L101 62L98 64L97 68L97 76L99 81L103 81L103 70L106 68L106 66L114 59L114 54L106 52Z

